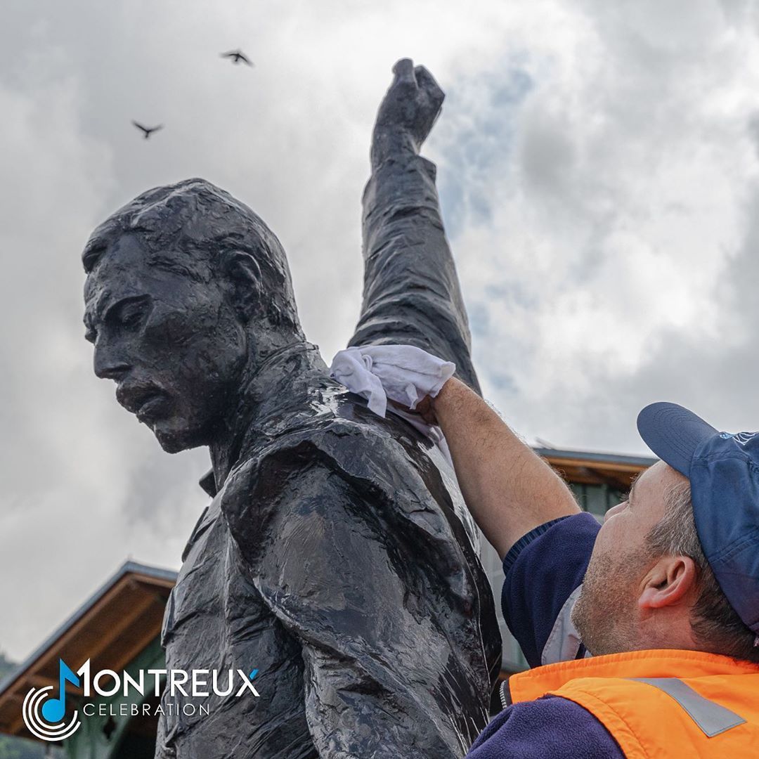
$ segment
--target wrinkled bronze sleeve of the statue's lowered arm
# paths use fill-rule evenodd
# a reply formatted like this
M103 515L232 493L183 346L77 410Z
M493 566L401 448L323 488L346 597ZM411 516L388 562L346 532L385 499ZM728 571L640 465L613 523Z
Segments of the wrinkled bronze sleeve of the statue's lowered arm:
M398 550L372 494L358 495L334 469L313 464L280 477L276 494L249 512L260 530L239 547L301 646L320 757L463 756L474 735L456 722L477 698L462 695L472 686L459 682L461 651L437 621L434 588L419 572L409 584L408 565L424 559Z

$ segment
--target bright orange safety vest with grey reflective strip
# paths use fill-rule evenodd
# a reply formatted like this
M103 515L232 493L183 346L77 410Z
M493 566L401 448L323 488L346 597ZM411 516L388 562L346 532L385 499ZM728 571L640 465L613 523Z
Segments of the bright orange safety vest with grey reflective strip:
M759 666L703 651L612 653L518 672L510 701L545 694L593 714L628 759L759 757Z

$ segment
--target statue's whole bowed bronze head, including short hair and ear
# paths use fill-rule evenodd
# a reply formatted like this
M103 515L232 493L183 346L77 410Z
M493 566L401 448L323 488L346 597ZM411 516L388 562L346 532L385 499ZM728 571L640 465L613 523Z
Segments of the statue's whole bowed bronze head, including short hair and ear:
M82 260L95 373L168 452L212 442L260 348L303 337L279 240L201 179L135 198Z

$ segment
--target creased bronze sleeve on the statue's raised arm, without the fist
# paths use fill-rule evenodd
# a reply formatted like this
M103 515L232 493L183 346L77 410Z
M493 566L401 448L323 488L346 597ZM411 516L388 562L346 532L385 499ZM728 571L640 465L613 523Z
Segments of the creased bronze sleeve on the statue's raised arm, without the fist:
M364 298L348 345L417 345L453 361L480 392L435 176L432 162L411 153L374 170L363 198Z

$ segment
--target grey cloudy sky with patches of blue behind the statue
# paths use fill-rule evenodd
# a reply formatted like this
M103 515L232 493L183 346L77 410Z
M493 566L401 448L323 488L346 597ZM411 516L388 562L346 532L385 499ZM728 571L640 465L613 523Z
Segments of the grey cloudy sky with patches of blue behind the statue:
M447 93L425 153L512 425L642 453L635 415L669 399L759 427L757 34L751 0L5 2L0 648L25 657L128 556L176 568L206 502L205 452L164 454L92 374L91 229L148 187L219 184L282 239L329 360L403 56ZM255 68L219 58L238 46Z

